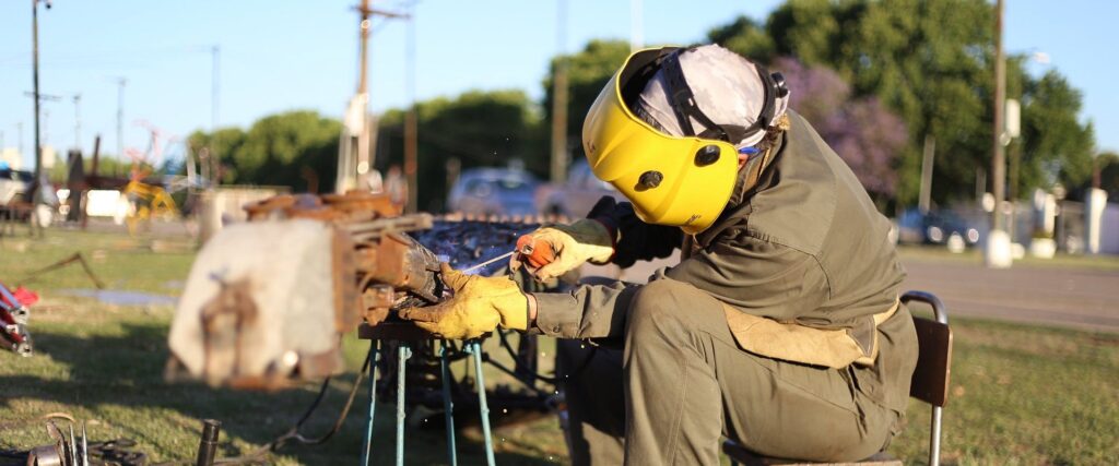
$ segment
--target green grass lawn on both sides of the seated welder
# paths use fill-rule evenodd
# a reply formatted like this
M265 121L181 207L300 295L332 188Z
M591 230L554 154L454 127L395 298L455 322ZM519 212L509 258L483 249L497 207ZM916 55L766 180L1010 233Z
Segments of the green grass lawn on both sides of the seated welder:
M159 247L157 249L177 250ZM153 253L151 240L51 231L45 240L0 241L0 280L83 251L115 289L176 295L192 255ZM288 429L313 399L317 384L275 393L214 390L162 380L171 306L117 306L68 295L90 288L81 268L31 285L36 355L0 351L0 449L49 443L39 418L68 412L90 422L93 439L130 437L156 460L189 459L200 419L224 422L220 456L247 453ZM958 464L1115 464L1119 458L1119 335L957 318L951 399L944 412L942 456ZM544 345L548 352L549 345ZM350 368L363 342L346 341ZM309 434L333 421L352 382L339 378ZM490 377L498 381L499 378ZM317 447L290 446L275 464L351 464L360 454L366 389L344 429ZM393 460L393 406L377 407L376 464ZM459 415L457 419L463 419ZM492 412L493 418L502 416ZM906 430L891 451L906 464L927 457L928 407L910 406ZM445 464L442 429L407 436L414 464ZM495 431L500 464L565 463L557 421L544 418ZM462 464L480 464L477 429L459 435Z

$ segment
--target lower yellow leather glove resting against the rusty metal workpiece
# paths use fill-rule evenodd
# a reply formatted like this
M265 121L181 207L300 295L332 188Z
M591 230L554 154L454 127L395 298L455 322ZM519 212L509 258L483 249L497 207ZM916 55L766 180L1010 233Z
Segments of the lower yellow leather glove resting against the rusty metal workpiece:
M505 329L528 329L528 296L509 277L467 275L443 263L440 274L454 296L429 307L412 307L401 317L444 339L462 340Z

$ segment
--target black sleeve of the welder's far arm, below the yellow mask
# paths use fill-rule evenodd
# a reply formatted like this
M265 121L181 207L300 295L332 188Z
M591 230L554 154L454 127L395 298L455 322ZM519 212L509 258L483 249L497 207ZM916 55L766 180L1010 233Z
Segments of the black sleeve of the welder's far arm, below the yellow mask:
M615 239L612 264L626 268L638 260L668 257L684 241L684 231L676 227L649 225L637 218L633 205L603 196L591 208L587 218L606 226Z

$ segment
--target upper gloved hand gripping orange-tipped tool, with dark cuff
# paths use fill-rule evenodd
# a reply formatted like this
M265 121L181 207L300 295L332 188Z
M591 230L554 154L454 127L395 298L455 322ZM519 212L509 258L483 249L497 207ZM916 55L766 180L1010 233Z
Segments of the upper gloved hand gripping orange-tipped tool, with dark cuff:
M610 230L598 220L582 219L571 225L554 225L525 236L528 237L527 242L535 247L544 245L551 248L554 257L548 260L547 255L543 258L536 254L526 255L518 247L518 254L509 259L509 268L516 270L526 266L539 280L558 277L586 261L605 264L614 255L614 240Z

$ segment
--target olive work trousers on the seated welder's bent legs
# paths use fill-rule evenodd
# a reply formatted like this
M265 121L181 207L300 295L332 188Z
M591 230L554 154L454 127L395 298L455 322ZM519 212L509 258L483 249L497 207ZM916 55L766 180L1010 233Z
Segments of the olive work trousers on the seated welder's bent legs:
M680 282L641 287L624 350L563 340L566 436L574 465L715 465L723 437L762 455L857 460L888 444L897 415L848 369L741 350L722 304Z

